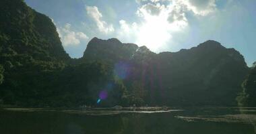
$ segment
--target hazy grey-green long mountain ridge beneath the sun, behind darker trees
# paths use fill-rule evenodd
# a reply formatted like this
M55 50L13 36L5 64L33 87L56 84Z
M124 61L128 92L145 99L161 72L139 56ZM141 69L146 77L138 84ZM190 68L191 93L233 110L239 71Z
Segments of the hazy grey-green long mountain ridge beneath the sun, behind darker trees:
M145 46L94 38L83 58L124 64L119 70L126 75L127 89L141 83L150 105L236 105L248 73L239 52L212 40L189 50L155 54Z

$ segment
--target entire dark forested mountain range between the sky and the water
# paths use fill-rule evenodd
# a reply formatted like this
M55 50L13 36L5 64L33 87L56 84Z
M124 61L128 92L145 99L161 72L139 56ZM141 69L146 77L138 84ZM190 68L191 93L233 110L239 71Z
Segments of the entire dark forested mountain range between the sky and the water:
M156 54L93 38L71 59L49 17L22 0L2 0L0 9L3 107L235 106L249 72L239 52L212 40Z

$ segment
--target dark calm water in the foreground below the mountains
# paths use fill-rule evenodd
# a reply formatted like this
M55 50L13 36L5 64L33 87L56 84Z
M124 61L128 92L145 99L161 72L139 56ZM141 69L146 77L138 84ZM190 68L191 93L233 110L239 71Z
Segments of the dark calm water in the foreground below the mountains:
M146 112L2 109L0 133L256 133L256 108L203 107L181 110Z

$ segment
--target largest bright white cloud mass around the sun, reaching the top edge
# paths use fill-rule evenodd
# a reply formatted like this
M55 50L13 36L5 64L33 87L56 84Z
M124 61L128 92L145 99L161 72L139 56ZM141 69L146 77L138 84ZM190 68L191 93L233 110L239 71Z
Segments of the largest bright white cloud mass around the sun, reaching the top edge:
M199 17L216 11L216 0L135 0L139 7L136 14L141 21L119 21L118 38L135 40L157 52L174 42L172 34L189 29L187 13Z

